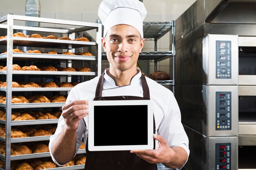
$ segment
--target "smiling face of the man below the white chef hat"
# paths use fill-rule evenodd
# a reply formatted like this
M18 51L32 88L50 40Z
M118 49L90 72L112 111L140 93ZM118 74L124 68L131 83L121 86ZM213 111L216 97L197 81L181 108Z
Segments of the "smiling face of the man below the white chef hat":
M125 24L113 26L101 41L110 69L126 71L137 67L145 39L141 39L136 28Z

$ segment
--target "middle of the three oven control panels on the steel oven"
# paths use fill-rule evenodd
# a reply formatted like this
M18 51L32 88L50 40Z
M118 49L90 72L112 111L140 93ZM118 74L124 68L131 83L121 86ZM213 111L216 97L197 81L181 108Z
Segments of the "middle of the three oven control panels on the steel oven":
M216 92L216 131L231 130L231 92Z

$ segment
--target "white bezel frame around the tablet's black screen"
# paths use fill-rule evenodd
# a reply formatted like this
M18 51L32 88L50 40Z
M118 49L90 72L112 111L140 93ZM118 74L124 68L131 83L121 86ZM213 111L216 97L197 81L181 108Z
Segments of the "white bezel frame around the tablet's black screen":
M120 106L120 105L147 105L147 141L146 145L115 145L115 146L94 146L94 106ZM153 102L151 100L93 100L89 102L88 113L88 150L150 150L154 147L153 139ZM115 129L116 130L116 129ZM111 135L111 130L110 130ZM131 136L132 137L132 136ZM136 139L134 139L136 140Z

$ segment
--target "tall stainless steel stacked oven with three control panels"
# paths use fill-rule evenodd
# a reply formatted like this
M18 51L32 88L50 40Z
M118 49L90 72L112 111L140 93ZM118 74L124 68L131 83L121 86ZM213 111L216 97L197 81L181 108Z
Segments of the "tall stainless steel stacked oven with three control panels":
M176 20L186 170L256 170L255 9L256 0L197 0Z

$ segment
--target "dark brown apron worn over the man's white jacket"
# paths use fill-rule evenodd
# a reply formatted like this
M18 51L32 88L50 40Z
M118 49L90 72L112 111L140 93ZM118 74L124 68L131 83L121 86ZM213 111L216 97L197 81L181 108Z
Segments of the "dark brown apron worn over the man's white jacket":
M97 84L94 100L150 100L148 84L144 75L141 75L143 97L138 96L106 96L102 97L104 73ZM154 119L155 133L155 119ZM88 138L87 138L88 141ZM155 140L154 140L155 149ZM148 163L130 150L89 151L86 143L85 170L157 170L157 164Z

